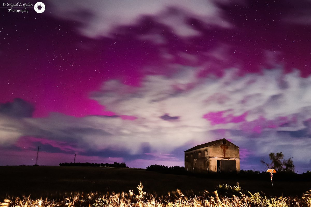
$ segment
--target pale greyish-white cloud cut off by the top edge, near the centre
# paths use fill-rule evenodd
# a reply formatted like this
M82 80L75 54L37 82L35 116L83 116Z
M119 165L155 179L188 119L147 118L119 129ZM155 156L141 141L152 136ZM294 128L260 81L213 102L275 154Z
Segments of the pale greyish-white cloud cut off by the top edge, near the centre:
M221 10L213 1L197 0L106 0L106 1L52 1L53 15L82 24L82 34L94 38L110 36L118 26L135 25L143 16L155 17L181 37L197 35L187 24L188 17L204 24L229 27L221 18Z

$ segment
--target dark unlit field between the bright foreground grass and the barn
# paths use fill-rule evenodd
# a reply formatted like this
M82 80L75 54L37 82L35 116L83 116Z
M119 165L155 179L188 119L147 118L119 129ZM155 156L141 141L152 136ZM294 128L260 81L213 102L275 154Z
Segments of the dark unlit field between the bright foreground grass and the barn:
M277 174L275 174L275 177ZM263 180L202 178L187 175L162 174L144 169L115 169L64 166L1 166L0 198L10 196L49 197L58 199L71 192L128 192L142 182L144 190L156 195L180 189L184 194L200 195L213 192L219 184L231 186L239 182L242 189L262 192L267 196L301 196L311 188L311 182L274 182Z

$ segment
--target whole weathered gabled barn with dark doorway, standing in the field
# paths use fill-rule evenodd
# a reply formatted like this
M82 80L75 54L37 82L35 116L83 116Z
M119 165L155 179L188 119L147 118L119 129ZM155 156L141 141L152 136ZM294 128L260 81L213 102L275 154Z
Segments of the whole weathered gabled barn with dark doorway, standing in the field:
M194 173L239 173L239 147L226 139L201 144L185 152L185 170Z

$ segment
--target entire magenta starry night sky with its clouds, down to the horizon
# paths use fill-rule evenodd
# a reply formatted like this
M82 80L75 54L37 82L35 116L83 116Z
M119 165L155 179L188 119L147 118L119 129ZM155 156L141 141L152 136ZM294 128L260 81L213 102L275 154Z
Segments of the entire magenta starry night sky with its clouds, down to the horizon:
M43 3L0 9L0 165L183 166L226 138L241 169L310 170L310 1Z

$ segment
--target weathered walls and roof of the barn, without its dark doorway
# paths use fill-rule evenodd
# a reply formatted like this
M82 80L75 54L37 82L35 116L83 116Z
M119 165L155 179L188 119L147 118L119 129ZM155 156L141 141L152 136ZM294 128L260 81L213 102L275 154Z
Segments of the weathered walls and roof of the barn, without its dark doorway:
M230 168L230 172L240 172L239 147L231 142L222 141L214 143L212 146L185 152L185 169L195 173L218 172L221 163L235 160L236 169ZM217 160L219 160L217 165ZM224 165L223 165L224 166Z

